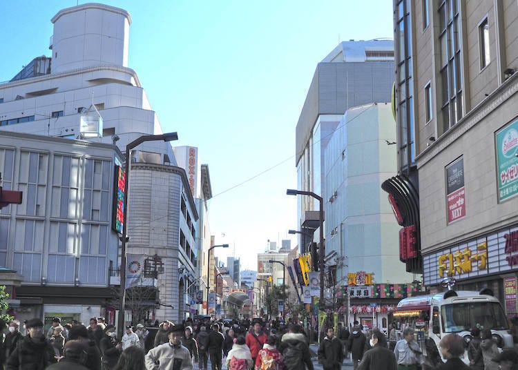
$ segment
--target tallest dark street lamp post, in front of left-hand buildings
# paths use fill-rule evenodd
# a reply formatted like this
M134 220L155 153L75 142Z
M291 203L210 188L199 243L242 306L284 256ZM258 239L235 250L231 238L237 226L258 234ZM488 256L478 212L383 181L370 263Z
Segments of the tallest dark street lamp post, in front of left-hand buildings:
M163 140L164 142L172 142L178 140L177 133L165 133L162 135L143 135L137 137L133 142L126 145L126 166L124 168L124 210L122 213L122 236L119 238L122 242L121 246L121 258L120 258L120 293L119 300L121 302L121 309L119 311L119 318L117 320L117 334L119 338L122 338L124 333L124 317L126 316L126 244L129 242L128 237L128 195L129 195L129 175L130 175L130 164L131 164L131 150L143 142L158 142Z

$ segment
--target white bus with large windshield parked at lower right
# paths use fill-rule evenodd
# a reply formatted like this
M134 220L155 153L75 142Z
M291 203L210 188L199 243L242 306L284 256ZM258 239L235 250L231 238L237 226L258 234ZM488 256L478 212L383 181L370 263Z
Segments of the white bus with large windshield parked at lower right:
M439 351L439 341L448 333L461 335L467 349L472 339L471 329L491 329L499 348L513 347L506 315L489 289L480 293L450 289L443 293L405 298L394 311L394 322L400 331L406 327L414 329L423 356L433 366L445 362ZM463 361L468 364L468 353L464 355Z

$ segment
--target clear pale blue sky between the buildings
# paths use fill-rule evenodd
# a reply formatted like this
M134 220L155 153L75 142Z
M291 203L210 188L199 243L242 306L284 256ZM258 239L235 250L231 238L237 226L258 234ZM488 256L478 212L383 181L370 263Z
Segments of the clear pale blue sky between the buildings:
M77 3L1 1L0 81L50 56L50 19ZM178 131L178 145L198 146L209 164L211 233L235 246L216 255L256 269L267 240L297 228L286 188L296 188L295 127L316 64L339 41L392 37L392 1L103 3L131 14L128 66L164 131Z

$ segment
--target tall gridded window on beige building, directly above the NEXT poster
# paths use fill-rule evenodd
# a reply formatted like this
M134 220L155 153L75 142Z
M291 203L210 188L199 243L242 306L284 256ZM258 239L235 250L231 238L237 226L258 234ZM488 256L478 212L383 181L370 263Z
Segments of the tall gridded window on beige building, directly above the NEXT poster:
M438 128L439 135L442 135L463 117L459 0L439 2L437 12L441 53L441 117Z

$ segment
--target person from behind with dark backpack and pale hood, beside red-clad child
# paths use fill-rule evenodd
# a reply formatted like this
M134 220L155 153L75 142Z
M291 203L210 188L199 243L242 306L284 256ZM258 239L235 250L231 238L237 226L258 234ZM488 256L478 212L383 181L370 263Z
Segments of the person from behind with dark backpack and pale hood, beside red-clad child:
M278 349L282 353L285 370L314 370L309 345L300 325L289 327L289 333L282 335Z

